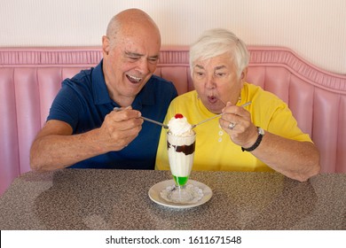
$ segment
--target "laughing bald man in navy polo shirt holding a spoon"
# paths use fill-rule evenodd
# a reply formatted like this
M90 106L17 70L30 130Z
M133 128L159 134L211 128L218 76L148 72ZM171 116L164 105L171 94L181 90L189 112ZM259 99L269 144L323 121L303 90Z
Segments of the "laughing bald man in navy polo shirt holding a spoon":
M103 59L62 82L30 151L33 170L64 167L153 169L163 121L177 97L172 82L153 75L160 30L145 12L125 10L102 37Z

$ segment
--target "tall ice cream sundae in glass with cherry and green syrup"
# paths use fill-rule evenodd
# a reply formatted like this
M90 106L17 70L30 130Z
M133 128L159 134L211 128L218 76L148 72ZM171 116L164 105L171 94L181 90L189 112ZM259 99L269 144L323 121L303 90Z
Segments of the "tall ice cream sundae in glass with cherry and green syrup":
M177 203L187 203L195 197L193 190L186 187L193 168L195 141L196 133L192 126L183 115L176 114L169 121L167 133L169 167L175 182L175 187L169 191L167 198Z

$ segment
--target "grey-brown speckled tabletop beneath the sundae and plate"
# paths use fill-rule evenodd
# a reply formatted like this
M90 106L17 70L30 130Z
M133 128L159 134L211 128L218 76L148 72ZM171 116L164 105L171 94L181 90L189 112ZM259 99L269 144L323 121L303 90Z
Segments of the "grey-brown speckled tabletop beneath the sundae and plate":
M28 172L0 198L0 229L346 229L346 174L297 182L278 173L193 172L213 190L192 208L148 197L168 171Z

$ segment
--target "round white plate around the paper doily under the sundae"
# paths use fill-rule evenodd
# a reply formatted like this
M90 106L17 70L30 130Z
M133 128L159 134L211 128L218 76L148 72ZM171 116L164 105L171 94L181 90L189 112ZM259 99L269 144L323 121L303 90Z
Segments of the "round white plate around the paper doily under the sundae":
M188 183L193 184L193 186L199 187L201 190L203 190L203 197L198 202L181 204L181 203L169 202L169 201L166 201L164 198L161 198L161 195L160 195L161 191L165 190L167 187L169 187L171 185L174 185L173 179L158 182L155 185L153 185L153 187L150 188L150 190L148 192L149 198L151 198L153 200L153 202L155 202L159 205L165 205L165 206L175 207L175 208L189 208L189 207L193 207L193 206L197 206L197 205L202 205L202 204L208 202L208 200L213 195L213 192L210 190L210 188L202 182L189 180Z

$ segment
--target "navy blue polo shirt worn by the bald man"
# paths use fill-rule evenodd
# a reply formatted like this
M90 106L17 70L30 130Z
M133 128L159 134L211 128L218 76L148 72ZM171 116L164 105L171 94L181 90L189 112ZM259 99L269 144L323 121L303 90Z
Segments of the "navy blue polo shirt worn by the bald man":
M73 134L81 134L102 125L106 114L113 111L115 106L119 107L109 97L102 62L62 82L47 120L67 122L73 128ZM163 121L169 103L175 97L177 89L173 83L153 75L138 93L132 108L147 118ZM160 126L144 121L139 135L122 151L107 152L71 167L153 169L160 132Z

